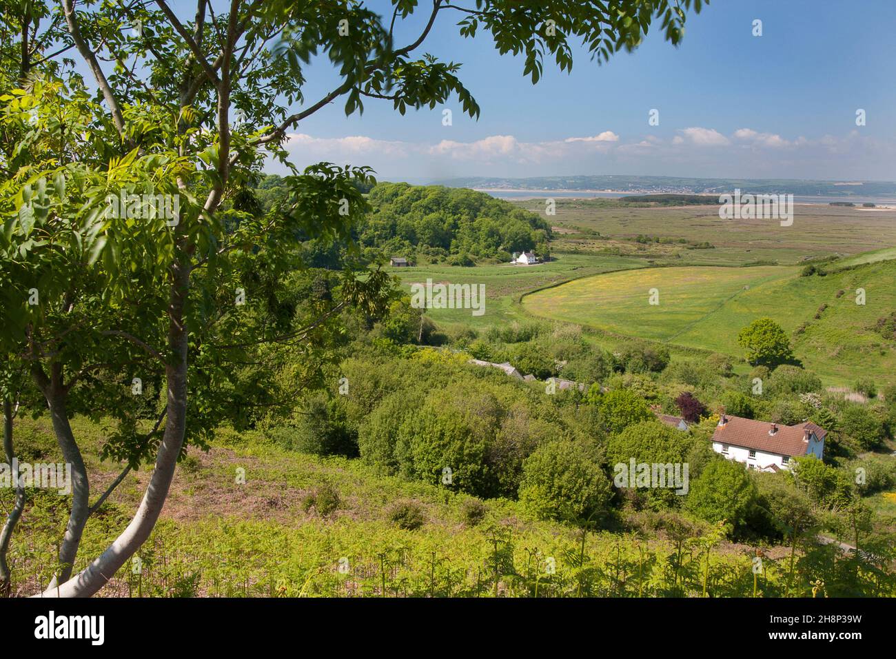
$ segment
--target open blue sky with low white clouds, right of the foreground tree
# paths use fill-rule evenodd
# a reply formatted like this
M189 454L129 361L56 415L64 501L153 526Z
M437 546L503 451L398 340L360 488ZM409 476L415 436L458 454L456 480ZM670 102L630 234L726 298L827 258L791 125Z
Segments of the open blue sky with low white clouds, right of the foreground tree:
M416 39L428 3L420 4L396 31L398 44ZM391 15L388 0L366 6ZM537 85L487 33L462 38L460 18L440 13L416 53L462 64L478 120L456 99L404 117L386 100L366 100L363 115L345 117L337 102L289 134L292 161L369 165L381 180L413 183L599 174L896 180L894 0L711 0L688 17L678 48L655 25L640 48L608 64L582 48L573 50L572 74L546 61ZM313 64L312 102L337 83L328 62ZM273 162L268 170L282 172Z

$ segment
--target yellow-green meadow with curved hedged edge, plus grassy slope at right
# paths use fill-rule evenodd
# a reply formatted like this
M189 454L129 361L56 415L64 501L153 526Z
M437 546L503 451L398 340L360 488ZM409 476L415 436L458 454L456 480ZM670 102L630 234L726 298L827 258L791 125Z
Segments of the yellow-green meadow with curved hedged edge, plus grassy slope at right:
M893 261L824 277L801 277L787 266L648 268L536 291L522 306L535 316L735 357L742 354L738 331L771 316L792 334L797 358L826 383L852 385L859 376L890 383L896 345L873 327L896 309L893 281ZM659 305L649 304L654 288ZM865 305L856 303L859 288L866 290Z

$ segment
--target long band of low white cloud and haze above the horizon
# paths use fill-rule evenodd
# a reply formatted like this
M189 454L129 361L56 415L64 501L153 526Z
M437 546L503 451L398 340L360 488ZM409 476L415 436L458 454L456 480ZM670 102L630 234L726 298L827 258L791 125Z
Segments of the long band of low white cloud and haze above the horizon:
M321 160L369 165L381 178L525 177L624 170L695 177L896 178L896 141L866 137L859 131L787 138L747 127L722 134L690 126L627 141L607 130L541 142L497 134L469 142L435 143L367 135L290 134L287 148L299 167Z

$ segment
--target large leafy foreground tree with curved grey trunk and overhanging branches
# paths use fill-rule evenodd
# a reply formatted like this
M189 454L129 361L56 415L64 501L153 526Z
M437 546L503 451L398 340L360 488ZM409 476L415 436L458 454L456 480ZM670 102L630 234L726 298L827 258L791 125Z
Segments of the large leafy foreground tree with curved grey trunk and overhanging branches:
M61 0L53 24L67 31L58 45L77 53L96 93L57 53L30 67L33 77L23 89L4 95L4 139L12 136L3 147L8 166L0 191L6 219L0 281L12 283L4 286L11 316L4 332L28 346L30 360L50 367L36 378L57 438L69 449L66 461L79 456L62 395L73 390L72 377L83 377L85 368L92 373L94 365L78 359L76 344L92 346L88 357L116 351L116 371L140 354L143 368L151 366L165 387L155 468L134 519L88 568L47 596L96 593L149 536L188 429L226 406L215 393L232 362L216 362L220 354L259 343L313 346L315 331L340 308L378 304L383 277L354 277L349 266L342 300L310 325L262 336L258 328L271 325L254 325L254 336L241 331L238 310L226 301L240 275L260 265L285 270L299 232L350 244L351 226L366 212L359 190L371 183L369 169L324 163L304 173L293 169L289 195L275 210L262 216L246 210L246 188L265 157L289 167L283 148L289 130L335 100L344 100L347 114L361 111L365 99L390 100L403 114L456 95L466 113L478 116L476 101L456 75L460 65L413 55L446 13L461 13L462 37L489 33L501 54L522 55L523 74L538 82L546 53L561 70L572 66L570 39L582 39L594 58L605 61L638 46L656 19L665 38L677 44L685 11L701 8L699 0L620 0L612 7L542 0L510 8L483 0L468 9L434 0L419 36L396 47L393 37L417 5L392 4L391 18L383 21L344 0L234 0L229 12L218 13L208 0L197 0L190 21L164 0L86 2L77 10L75 0ZM329 57L340 82L309 101L303 97L305 68L318 54ZM54 77L56 72L61 75ZM177 198L178 217L108 217L107 195L122 192ZM34 283L41 293L39 305L31 305L37 309L26 295ZM45 322L47 316L55 316L53 322ZM85 332L70 341L72 328L85 318ZM211 344L202 343L202 328L210 325ZM41 343L28 340L35 330ZM225 331L239 338L228 342ZM47 342L68 344L66 354L44 350ZM204 387L216 404L190 407L194 387ZM130 442L125 452L139 454L138 444ZM154 447L156 440L148 444ZM81 511L88 491L82 484L75 499ZM82 518L77 516L73 537L82 531Z

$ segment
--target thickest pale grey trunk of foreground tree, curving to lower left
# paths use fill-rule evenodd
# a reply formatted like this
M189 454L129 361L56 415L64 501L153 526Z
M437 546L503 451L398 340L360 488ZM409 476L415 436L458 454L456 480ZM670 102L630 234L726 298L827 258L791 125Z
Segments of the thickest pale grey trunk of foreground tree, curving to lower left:
M90 565L58 587L50 587L43 597L90 597L106 585L150 537L168 497L174 478L177 457L184 445L186 429L186 367L188 332L184 323L184 305L189 289L189 267L177 263L172 266L173 281L169 298L168 350L170 363L166 367L168 379L168 419L165 434L159 444L155 469L146 493L127 525L106 551Z

